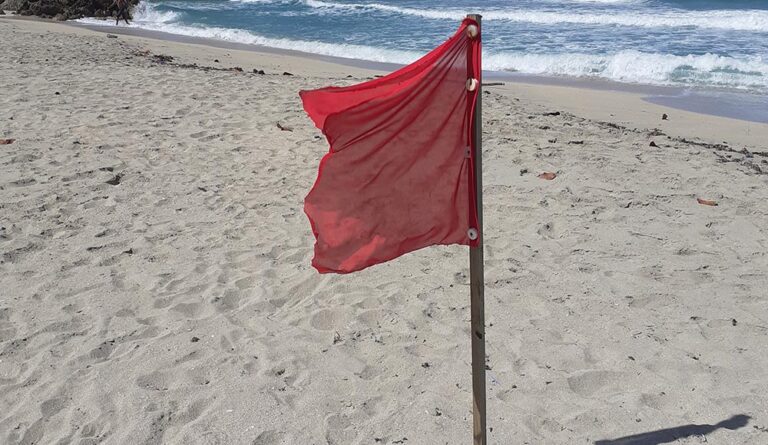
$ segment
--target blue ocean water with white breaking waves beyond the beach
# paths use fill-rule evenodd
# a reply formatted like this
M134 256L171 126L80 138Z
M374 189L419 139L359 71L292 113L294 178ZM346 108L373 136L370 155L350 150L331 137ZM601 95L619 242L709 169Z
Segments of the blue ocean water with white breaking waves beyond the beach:
M768 94L768 0L144 0L131 26L409 63L467 13L486 70Z

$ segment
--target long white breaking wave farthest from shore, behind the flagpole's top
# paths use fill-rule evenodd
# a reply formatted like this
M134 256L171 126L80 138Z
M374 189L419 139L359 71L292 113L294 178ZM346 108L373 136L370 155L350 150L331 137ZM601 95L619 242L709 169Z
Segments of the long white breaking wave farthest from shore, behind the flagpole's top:
M386 11L394 14L411 15L428 19L460 20L466 11L458 9L417 9L380 3L338 3L322 0L304 0L312 8L337 9L346 11ZM480 10L483 20L506 20L538 24L573 23L585 25L619 25L646 28L697 27L729 29L739 31L768 32L768 11L659 11L657 13L576 13L523 9Z

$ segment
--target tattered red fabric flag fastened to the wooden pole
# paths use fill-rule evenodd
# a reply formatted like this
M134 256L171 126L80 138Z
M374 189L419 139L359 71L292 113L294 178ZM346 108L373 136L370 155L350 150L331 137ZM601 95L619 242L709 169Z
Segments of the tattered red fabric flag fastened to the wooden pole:
M380 79L300 92L331 146L304 200L319 272L479 242L472 164L479 88L469 87L472 78L480 82L477 30L464 20L448 41Z

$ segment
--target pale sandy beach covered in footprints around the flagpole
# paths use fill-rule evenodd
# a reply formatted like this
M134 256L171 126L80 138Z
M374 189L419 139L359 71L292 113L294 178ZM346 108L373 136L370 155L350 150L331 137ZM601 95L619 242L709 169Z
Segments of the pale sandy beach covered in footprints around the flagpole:
M383 73L5 17L0 42L0 443L470 442L466 248L310 267L327 143L298 91ZM768 124L485 93L489 443L768 443Z

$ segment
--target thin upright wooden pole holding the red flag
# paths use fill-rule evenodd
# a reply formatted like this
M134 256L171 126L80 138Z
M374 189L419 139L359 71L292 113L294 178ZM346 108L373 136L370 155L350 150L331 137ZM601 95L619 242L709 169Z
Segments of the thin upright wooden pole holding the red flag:
M482 36L479 14L470 14L468 18L477 22L478 33ZM481 59L482 60L482 59ZM473 445L486 445L485 423L485 281L483 272L483 150L482 150L482 64L477 73L477 102L475 104L472 137L475 151L475 191L477 194L477 232L480 243L469 248L469 287L471 296L472 326L472 430Z

